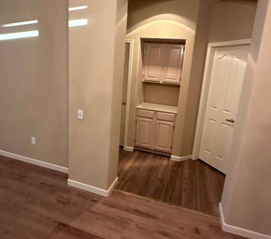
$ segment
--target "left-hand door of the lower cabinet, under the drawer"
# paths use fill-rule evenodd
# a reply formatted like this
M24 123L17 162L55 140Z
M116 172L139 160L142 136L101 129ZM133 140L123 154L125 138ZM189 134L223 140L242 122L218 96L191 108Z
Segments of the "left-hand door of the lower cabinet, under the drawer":
M136 127L136 141L135 145L152 148L153 145L153 119L149 118L137 118L137 127Z

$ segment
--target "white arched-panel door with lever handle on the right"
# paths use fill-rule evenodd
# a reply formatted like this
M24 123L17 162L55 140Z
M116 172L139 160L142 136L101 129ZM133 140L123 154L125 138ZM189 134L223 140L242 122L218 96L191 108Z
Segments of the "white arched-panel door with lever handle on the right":
M216 48L199 158L226 173L249 46Z

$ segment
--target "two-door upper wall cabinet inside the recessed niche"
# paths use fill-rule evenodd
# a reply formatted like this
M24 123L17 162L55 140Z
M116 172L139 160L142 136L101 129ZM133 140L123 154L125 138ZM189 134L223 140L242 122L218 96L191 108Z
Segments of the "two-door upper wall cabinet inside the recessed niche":
M145 43L143 82L181 82L184 45Z

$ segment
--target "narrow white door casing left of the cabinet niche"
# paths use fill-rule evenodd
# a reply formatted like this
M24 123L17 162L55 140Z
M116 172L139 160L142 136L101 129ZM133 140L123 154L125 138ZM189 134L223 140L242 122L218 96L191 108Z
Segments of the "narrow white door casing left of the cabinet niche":
M133 39L126 39L125 44L129 43L129 65L128 65L128 83L127 83L127 103L126 103L126 115L125 115L125 127L124 127L124 143L123 149L127 151L133 151L133 148L127 146L128 138L128 121L130 111L130 91L131 91L131 76L132 76L132 57L133 57Z

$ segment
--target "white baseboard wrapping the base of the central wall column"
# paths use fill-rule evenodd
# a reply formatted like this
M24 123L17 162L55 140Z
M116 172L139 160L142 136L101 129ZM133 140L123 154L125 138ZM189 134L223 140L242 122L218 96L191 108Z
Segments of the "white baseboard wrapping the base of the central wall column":
M77 187L89 192L93 192L102 196L109 196L111 191L114 189L114 187L116 186L116 184L118 183L118 177L116 177L116 179L114 180L114 182L111 184L111 186L109 187L108 190L105 190L103 188L99 188L99 187L94 187L85 183L81 183L72 179L68 179L67 180L67 184L73 187Z

